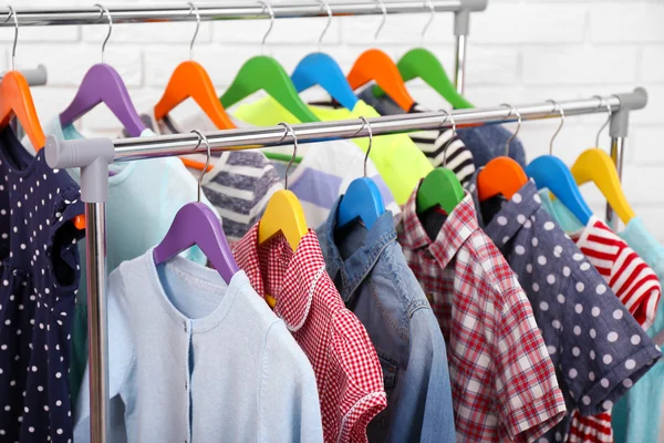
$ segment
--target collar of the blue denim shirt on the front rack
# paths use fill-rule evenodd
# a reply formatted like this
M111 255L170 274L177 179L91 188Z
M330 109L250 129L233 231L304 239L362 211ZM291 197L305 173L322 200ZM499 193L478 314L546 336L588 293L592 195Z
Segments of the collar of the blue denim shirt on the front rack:
M344 261L334 240L336 212L341 198L336 199L332 206L332 210L330 210L328 220L321 225L318 233L321 249L325 257L328 274L332 280L335 279L338 274L341 274L343 287L341 288L340 293L343 301L347 303L352 300L353 295L356 293L360 284L362 284L366 276L372 271L385 247L391 241L396 240L396 231L394 230L392 212L385 210L371 229L366 231L364 239L357 248L355 248L351 256ZM364 228L356 227L356 229ZM346 239L350 243L353 241L351 238L346 237ZM345 241L346 239L342 239L342 241ZM350 246L352 247L352 245Z

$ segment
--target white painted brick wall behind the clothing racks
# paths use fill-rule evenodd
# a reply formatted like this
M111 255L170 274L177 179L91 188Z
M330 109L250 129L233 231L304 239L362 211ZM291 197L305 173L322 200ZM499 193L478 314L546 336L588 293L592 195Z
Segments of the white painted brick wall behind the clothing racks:
M92 4L95 1L66 1ZM126 0L124 3L149 3ZM163 1L162 1L163 2ZM17 8L37 6L13 0ZM41 4L53 4L44 2ZM184 3L184 1L183 1ZM108 4L118 4L118 0ZM365 49L378 47L398 56L419 44L427 14L390 16L377 42L373 34L380 17L335 18L323 49L344 70ZM624 188L629 200L649 227L664 240L664 3L661 0L489 0L484 13L471 17L466 95L477 105L502 102L529 103L549 97L583 97L593 94L647 87L650 104L634 113L625 158ZM450 14L439 13L425 40L453 74L454 38ZM195 59L203 63L221 91L248 56L260 53L267 21L203 23ZM324 19L278 20L266 51L292 70L315 42ZM159 97L173 69L188 56L193 23L117 24L106 50L129 86L136 107L144 110ZM34 90L42 119L60 112L93 63L101 60L104 25L24 28L17 54L19 68L44 63L49 86ZM10 64L11 29L0 30L0 69ZM422 83L411 87L421 102L440 107L445 103ZM176 113L187 113L191 104ZM602 116L571 117L559 135L554 152L566 162L594 143ZM530 158L548 151L558 122L527 122L521 140ZM87 134L112 134L116 122L100 106L82 120ZM606 132L602 137L606 147ZM589 188L590 187L590 188ZM584 194L603 214L601 194L592 186Z

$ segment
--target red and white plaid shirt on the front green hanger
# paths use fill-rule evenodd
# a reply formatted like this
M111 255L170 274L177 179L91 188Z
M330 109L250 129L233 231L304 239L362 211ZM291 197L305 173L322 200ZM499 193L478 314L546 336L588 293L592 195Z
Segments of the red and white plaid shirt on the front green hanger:
M403 209L398 240L447 342L459 442L532 442L566 413L532 308L498 248L479 229L469 194L432 241Z

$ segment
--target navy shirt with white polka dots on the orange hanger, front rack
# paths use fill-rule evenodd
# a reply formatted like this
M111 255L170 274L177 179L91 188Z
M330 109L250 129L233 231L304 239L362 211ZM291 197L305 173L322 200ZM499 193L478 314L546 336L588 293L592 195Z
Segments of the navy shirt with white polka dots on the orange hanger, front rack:
M538 441L564 441L572 411L592 415L611 409L661 352L542 208L535 183L505 203L485 231L532 303L569 411Z

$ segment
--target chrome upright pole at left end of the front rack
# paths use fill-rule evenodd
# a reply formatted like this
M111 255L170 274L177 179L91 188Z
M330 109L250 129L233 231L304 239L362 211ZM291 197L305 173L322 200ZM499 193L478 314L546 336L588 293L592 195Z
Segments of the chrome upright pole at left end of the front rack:
M85 203L90 440L108 437L108 333L106 321L106 204Z

